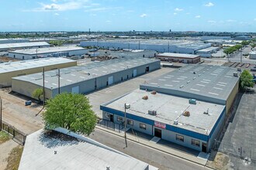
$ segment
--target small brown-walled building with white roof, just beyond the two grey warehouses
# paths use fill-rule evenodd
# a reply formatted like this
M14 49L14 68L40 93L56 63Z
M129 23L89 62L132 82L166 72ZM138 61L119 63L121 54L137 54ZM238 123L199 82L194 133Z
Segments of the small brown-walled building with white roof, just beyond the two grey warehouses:
M200 56L181 53L160 53L157 54L157 59L161 61L178 62L178 63L199 63Z

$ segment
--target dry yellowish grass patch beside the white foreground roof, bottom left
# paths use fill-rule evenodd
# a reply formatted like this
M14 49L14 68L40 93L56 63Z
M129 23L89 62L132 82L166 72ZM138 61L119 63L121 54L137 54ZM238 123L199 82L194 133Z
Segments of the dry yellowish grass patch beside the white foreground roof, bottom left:
M12 149L11 153L9 154L9 157L7 158L8 164L5 170L18 170L20 158L22 156L22 151L23 147L20 145Z

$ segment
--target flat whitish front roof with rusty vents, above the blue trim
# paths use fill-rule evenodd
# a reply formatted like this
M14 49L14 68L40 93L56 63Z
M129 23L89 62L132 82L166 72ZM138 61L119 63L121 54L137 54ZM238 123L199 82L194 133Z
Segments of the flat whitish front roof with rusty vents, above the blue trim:
M142 99L148 96L147 100ZM132 93L107 104L115 110L123 110L123 104L130 104L129 114L145 117L150 120L159 121L164 124L171 124L189 131L208 135L224 109L224 105L211 104L203 101L196 101L196 104L189 104L188 98L175 97L168 94L151 94L145 90L134 90ZM148 114L148 110L156 110L157 116ZM190 116L182 115L189 111ZM207 112L209 114L203 114ZM178 120L178 125L174 121Z

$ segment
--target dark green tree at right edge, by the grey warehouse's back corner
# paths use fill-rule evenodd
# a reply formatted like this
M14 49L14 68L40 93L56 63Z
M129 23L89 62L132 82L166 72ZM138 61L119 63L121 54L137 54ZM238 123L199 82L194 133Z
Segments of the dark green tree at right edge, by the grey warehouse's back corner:
M247 90L247 88L254 87L254 83L252 82L253 76L248 70L244 70L240 75L239 86L240 90Z

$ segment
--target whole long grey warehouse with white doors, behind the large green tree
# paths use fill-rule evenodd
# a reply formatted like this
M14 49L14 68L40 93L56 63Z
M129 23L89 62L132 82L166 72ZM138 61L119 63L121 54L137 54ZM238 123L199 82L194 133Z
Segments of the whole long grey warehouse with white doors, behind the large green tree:
M120 58L89 63L60 70L60 84L56 70L45 73L45 97L54 97L58 90L69 93L89 93L112 83L129 80L161 66L159 59ZM42 73L12 78L12 90L32 97L33 90L43 87Z

